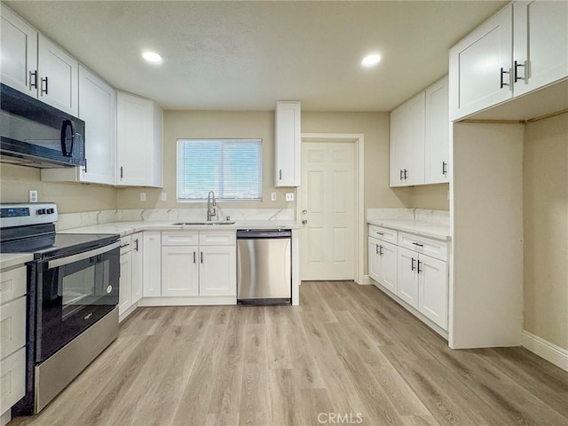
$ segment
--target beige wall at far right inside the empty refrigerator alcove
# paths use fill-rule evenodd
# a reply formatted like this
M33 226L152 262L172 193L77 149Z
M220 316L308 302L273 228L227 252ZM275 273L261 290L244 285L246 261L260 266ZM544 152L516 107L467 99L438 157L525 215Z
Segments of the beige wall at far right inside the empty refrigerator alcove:
M525 126L525 330L568 350L568 114Z

